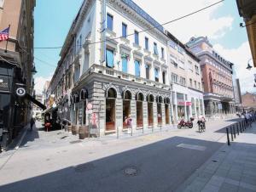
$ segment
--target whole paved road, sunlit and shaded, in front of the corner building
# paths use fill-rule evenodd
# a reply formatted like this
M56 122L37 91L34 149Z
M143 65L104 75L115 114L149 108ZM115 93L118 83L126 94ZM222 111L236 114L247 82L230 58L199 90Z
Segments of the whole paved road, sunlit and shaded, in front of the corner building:
M0 191L172 191L224 144L221 129L234 121L211 121L206 133L195 127L74 144L60 131L28 132L0 170Z

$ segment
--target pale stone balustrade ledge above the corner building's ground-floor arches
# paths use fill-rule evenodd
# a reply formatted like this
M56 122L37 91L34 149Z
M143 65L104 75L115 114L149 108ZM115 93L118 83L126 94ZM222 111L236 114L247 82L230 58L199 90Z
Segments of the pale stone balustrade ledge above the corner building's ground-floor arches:
M152 80L149 80L140 76L134 76L131 74L124 73L122 71L113 70L111 68L108 68L102 65L96 65L96 64L92 65L90 69L80 77L79 82L82 81L86 76L90 75L90 73L92 72L100 73L106 76L117 77L117 78L124 79L131 82L137 82L137 83L152 86L155 88L163 88L166 90L171 90L171 86L169 85L166 85L160 82L154 82Z

